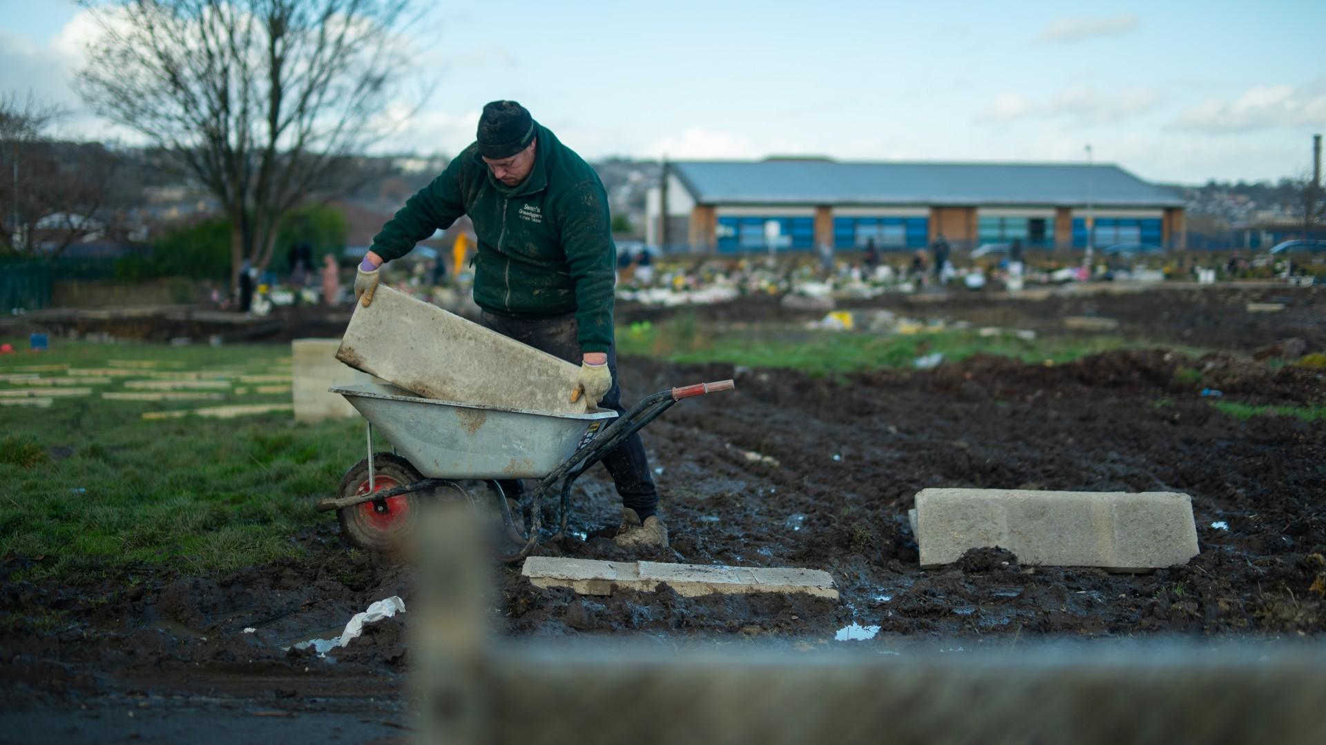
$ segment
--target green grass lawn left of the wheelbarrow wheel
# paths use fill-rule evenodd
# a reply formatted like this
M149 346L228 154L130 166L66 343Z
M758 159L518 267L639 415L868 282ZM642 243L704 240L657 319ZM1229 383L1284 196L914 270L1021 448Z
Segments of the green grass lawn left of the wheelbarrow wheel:
M0 339L4 341L4 339ZM15 341L15 346L21 346ZM106 367L158 361L159 370L231 367L271 374L286 346L167 347L54 343L49 353L0 357L19 366ZM62 375L64 372L40 372ZM126 567L207 573L298 557L300 530L341 475L363 457L357 420L294 424L289 411L237 419L143 420L145 411L289 402L290 394L219 402L122 402L123 378L49 408L0 407L0 557L27 559L29 579L106 575ZM40 383L4 383L0 390ZM243 383L236 383L241 386ZM249 386L252 391L252 386Z

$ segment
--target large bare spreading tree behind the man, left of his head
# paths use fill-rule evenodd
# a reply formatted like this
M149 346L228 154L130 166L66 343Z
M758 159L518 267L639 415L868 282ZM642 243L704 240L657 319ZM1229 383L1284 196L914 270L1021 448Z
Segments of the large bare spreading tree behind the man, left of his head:
M272 260L281 216L381 138L415 0L82 0L99 21L77 87L176 152L231 223L231 280Z

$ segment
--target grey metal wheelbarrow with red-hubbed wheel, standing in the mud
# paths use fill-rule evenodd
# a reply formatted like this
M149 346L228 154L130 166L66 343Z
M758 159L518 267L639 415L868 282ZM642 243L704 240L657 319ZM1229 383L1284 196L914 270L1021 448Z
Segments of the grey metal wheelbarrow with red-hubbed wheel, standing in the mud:
M676 402L731 391L732 380L659 391L626 414L591 410L549 414L419 398L386 384L337 386L366 420L369 455L341 479L335 498L318 512L335 510L341 530L367 550L394 553L404 546L430 498L455 498L491 516L503 540L493 554L517 562L542 538L544 501L557 493L557 532L566 534L572 485L626 437L643 430ZM392 452L373 452L377 427ZM497 484L538 479L518 505L518 520ZM504 547L508 544L509 547Z

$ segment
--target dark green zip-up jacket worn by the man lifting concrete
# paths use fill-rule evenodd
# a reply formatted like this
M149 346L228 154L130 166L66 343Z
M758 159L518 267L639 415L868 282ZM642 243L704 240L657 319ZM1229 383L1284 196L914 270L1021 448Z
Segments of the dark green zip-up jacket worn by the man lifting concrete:
M617 249L598 174L548 127L534 170L516 187L495 179L471 144L373 237L385 260L469 215L479 237L475 302L513 317L575 312L581 351L613 345Z

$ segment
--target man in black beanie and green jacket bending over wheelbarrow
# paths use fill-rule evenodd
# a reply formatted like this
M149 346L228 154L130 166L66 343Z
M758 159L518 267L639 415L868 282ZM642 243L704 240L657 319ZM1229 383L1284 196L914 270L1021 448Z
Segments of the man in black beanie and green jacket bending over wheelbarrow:
M570 400L585 395L622 414L613 339L617 251L607 194L594 170L514 101L484 106L477 141L374 236L354 281L355 298L367 306L385 261L404 256L461 215L469 215L477 236L480 323L581 363ZM667 546L639 435L623 441L603 465L623 505L614 541ZM501 485L508 496L520 493L518 481Z

